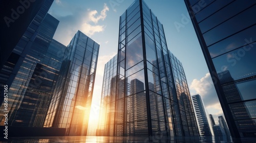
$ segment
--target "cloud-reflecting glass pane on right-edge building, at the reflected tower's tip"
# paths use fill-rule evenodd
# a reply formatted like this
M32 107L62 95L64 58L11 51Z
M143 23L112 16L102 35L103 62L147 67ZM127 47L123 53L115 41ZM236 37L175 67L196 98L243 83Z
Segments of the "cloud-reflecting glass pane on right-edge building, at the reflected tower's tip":
M241 47L240 49L212 59L221 83L224 84L232 80L256 75L255 55L255 48L245 50ZM226 71L229 72L227 73Z

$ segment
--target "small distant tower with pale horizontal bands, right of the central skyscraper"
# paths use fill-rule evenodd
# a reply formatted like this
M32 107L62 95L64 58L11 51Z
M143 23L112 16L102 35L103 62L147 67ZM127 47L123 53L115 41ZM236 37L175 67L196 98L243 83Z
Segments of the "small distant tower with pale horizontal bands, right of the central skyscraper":
M193 104L196 110L196 116L199 124L199 132L201 136L212 136L209 121L205 111L204 103L199 94L192 96Z

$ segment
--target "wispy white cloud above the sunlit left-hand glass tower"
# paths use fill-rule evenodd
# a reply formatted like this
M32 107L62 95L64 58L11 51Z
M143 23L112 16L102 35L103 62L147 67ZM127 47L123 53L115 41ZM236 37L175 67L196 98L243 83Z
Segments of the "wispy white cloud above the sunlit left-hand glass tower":
M61 1L56 1L61 3ZM103 32L104 25L99 24L100 20L104 20L107 16L106 12L109 8L106 4L103 6L100 14L96 10L83 8L70 8L68 6L61 7L67 10L69 15L61 16L52 11L52 15L59 20L59 25L54 35L54 39L62 44L68 45L75 33L80 30L87 36L91 37L95 33ZM65 35L65 36L63 36Z

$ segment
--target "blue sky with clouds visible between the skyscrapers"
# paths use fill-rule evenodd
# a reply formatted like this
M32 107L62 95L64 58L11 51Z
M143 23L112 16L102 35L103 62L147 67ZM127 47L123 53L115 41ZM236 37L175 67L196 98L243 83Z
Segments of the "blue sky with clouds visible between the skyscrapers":
M104 64L117 54L119 17L133 2L55 0L49 10L59 20L55 40L68 45L80 30L100 44L89 128L98 123ZM162 23L168 49L182 62L191 96L200 94L218 124L222 108L184 1L144 2Z

